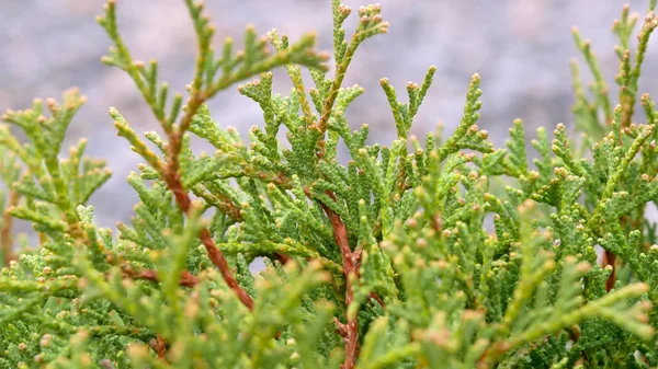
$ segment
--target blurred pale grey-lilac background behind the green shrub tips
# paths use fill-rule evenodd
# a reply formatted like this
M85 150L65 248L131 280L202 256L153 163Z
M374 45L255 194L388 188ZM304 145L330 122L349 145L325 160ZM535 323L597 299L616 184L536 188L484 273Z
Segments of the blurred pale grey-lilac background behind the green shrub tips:
M120 28L135 59L160 61L160 80L173 91L184 91L195 56L192 24L182 0L116 0ZM319 34L319 49L331 48L330 0L207 0L216 24L216 46L225 36L240 45L245 25L260 34L276 27L296 39L307 31ZM348 34L358 19L355 10L367 0L344 0L354 15L345 22ZM497 146L502 146L512 119L522 118L534 129L553 129L571 123L572 104L569 59L577 57L586 81L591 80L574 46L570 28L578 25L592 41L613 96L616 87L616 42L611 32L625 1L619 0L379 0L389 33L365 42L356 53L345 85L359 84L365 93L348 111L352 127L371 126L371 142L388 145L395 126L378 80L387 77L402 99L407 81L421 82L430 65L438 67L412 134L424 136L443 122L450 134L460 122L466 88L474 72L481 74L481 118ZM133 82L100 58L110 46L95 23L103 0L0 0L0 111L22 109L32 99L59 97L79 87L88 97L69 128L68 142L89 138L88 153L106 158L112 180L91 199L100 226L126 220L137 196L126 176L140 159L115 135L107 107L117 107L137 131L158 125ZM629 1L631 10L646 12L648 0ZM638 22L642 26L642 18ZM633 38L635 42L635 38ZM649 44L640 91L658 96L656 43ZM308 76L308 74L306 74ZM275 89L290 91L280 70ZM309 78L306 84L310 85ZM616 97L613 100L616 102ZM256 103L235 88L211 103L219 125L245 134L262 124ZM642 115L638 119L644 119Z

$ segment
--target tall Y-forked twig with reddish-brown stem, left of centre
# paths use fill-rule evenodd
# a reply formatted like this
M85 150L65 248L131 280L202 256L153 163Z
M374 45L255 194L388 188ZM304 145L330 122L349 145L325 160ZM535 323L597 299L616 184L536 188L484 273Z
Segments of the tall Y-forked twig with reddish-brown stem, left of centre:
M232 39L227 38L225 41L225 53L222 59L214 60L212 39L215 30L214 26L209 24L209 19L203 13L203 3L185 0L185 4L194 23L197 41L197 57L194 78L192 83L188 87L191 96L183 107L184 114L180 118L178 125L174 125L174 122L180 113L179 109L181 107L182 96L180 94L174 96L171 113L168 116L164 113L168 87L166 83L163 83L159 90L156 87L157 61L151 61L150 67L146 68L144 62L133 60L131 53L118 34L114 0L107 0L105 4L105 15L99 18L99 23L105 28L110 38L112 38L115 44L115 47L110 51L111 55L103 59L104 62L116 66L131 76L167 134L169 140L164 163L158 158L150 158L151 160L149 163L154 165L162 181L166 182L167 186L174 195L179 207L183 212L189 215L191 199L188 188L184 188L181 182L179 157L182 151L183 137L188 132L192 124L192 118L196 115L198 108L217 92L228 88L237 81L288 62L300 62L317 68L324 68L321 62L325 61L327 57L313 51L311 48L316 38L313 33L305 35L298 43L292 45L290 48L270 56L264 48L265 45L256 39L257 36L253 27L249 26L247 28L246 49L241 55L235 57L231 56ZM238 64L242 65L234 71ZM223 74L219 78L216 78L219 69L222 69ZM133 141L137 140L137 138L133 138ZM139 146L138 142L133 143L134 146ZM149 159L148 154L144 154L147 152L147 149L141 150L143 155ZM211 262L219 268L226 284L238 295L240 301L249 310L252 310L253 300L232 276L226 258L222 251L217 249L209 231L207 229L202 229L198 239L205 246ZM285 256L280 256L280 258L282 261L288 261Z

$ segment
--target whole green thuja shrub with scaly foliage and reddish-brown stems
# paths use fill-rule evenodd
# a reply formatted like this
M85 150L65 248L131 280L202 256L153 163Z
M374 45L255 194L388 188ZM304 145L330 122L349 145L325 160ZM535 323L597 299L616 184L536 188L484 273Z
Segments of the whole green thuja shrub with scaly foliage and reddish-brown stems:
M387 31L379 5L360 8L347 35L353 11L332 1L328 73L313 34L248 27L240 50L230 38L215 50L203 5L185 3L198 49L186 94L169 94L156 61L133 59L114 1L99 18L114 44L103 61L134 80L160 123L161 134L138 135L110 108L144 159L128 176L140 198L129 224L93 222L87 201L111 173L83 155L86 141L61 152L84 103L76 90L2 116L0 367L658 366L658 240L645 217L658 199L658 113L638 96L655 0L644 21L625 7L614 22L619 89L575 30L593 76L586 91L572 64L574 126L586 135L540 128L532 161L521 120L506 149L476 126L478 74L452 136L409 136L435 67L407 84L408 100L381 80L389 146L367 146L366 125L352 130L344 112L363 89L342 81L359 46ZM287 96L272 92L277 67ZM206 106L237 83L263 112L249 142ZM193 136L216 151L195 154ZM38 244L19 242L14 218Z

